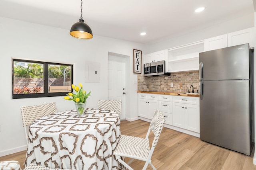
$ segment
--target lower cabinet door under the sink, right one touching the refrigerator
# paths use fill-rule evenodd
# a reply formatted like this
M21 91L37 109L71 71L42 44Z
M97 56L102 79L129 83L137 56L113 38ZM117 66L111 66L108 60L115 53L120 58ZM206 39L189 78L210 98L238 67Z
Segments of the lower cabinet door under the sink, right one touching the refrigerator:
M200 132L199 106L185 104L185 129Z

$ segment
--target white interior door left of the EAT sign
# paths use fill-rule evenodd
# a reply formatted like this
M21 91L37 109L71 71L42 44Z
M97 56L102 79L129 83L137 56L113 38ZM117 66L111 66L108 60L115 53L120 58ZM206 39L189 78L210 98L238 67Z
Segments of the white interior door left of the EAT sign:
M108 55L108 100L122 100L120 119L125 119L125 58Z

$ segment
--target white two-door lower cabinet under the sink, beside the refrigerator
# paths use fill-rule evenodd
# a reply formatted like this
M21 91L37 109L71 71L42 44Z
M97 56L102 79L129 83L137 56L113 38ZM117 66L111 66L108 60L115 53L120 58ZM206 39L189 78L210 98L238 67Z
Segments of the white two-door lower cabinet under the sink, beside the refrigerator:
M172 103L172 125L199 133L199 98L186 96L173 96L173 98L176 102ZM188 104L192 102L191 100L195 104Z

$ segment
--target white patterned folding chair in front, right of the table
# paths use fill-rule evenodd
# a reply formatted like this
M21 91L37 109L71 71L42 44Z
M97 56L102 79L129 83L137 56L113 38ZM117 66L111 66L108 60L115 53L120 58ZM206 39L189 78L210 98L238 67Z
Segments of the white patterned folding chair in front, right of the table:
M117 147L113 152L118 162L120 162L129 170L133 170L132 167L129 166L129 164L134 159L138 159L138 160L145 161L145 164L142 170L146 170L146 168L148 167L148 164L150 164L150 166L154 170L156 170L156 168L153 166L151 162L151 156L154 152L156 144L158 143L158 139L163 129L164 122L165 122L164 115L158 109L156 109L154 116L152 118L152 121L150 123L150 126L148 128L148 133L145 139L140 137L121 135L118 141ZM151 149L150 149L149 139L148 139L150 131L154 133L154 141L152 143ZM121 159L121 157L128 157L132 159L128 163L126 163Z

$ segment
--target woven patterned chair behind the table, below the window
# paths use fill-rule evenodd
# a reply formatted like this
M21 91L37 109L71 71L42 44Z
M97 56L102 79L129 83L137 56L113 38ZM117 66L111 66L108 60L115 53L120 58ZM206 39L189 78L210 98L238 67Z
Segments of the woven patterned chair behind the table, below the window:
M35 106L25 106L20 108L21 116L22 116L22 123L25 130L26 139L28 139L28 129L27 126L33 123L36 119L40 119L41 117L56 113L56 103L48 103L48 104L41 104ZM28 145L28 140L27 140Z

